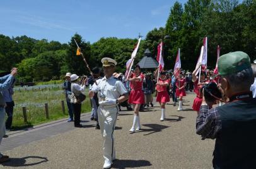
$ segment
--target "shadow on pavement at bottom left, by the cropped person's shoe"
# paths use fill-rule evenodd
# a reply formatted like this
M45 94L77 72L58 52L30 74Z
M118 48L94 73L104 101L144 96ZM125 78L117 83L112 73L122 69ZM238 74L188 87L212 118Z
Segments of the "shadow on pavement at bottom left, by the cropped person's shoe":
M37 158L38 162L35 163L27 163L26 164L26 159L28 158ZM23 158L9 158L9 161L6 161L5 163L2 163L3 166L33 166L33 165L38 165L40 163L47 162L46 157L41 157L41 156L25 156Z

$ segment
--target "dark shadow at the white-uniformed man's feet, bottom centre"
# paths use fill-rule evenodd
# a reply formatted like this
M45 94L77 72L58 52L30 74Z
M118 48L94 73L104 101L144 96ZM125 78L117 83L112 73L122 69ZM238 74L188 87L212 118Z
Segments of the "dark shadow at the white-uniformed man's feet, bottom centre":
M115 160L112 168L138 168L142 166L151 166L152 164L146 160Z

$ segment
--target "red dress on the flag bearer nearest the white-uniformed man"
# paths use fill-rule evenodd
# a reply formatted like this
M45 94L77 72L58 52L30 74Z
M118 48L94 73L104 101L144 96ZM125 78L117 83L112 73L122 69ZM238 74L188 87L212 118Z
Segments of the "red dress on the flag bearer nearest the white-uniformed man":
M135 74L131 75L131 78L136 77ZM144 75L141 73L139 76L141 78L141 81L136 80L136 81L132 81L130 82L130 87L131 87L131 93L129 95L129 100L128 102L130 104L144 104L145 100L144 100L144 93L143 93L143 79L144 79Z

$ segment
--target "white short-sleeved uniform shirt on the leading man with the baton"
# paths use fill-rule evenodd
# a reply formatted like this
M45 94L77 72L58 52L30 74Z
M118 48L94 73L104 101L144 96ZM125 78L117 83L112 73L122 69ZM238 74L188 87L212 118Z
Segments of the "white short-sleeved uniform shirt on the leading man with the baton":
M103 77L102 79L96 80L98 87L100 87L100 91L98 92L98 98L100 101L100 92L105 95L105 100L108 99L118 99L120 95L127 94L127 90L124 87L124 84L120 80L110 77ZM93 84L95 86L96 84ZM93 87L92 86L92 87Z

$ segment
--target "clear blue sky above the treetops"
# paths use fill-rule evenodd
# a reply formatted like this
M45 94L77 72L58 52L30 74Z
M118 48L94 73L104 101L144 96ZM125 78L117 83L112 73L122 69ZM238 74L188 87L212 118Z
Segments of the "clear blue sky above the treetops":
M74 33L91 43L110 36L136 38L139 33L145 38L153 28L165 26L174 3L172 0L3 0L0 34L61 43L67 43Z

